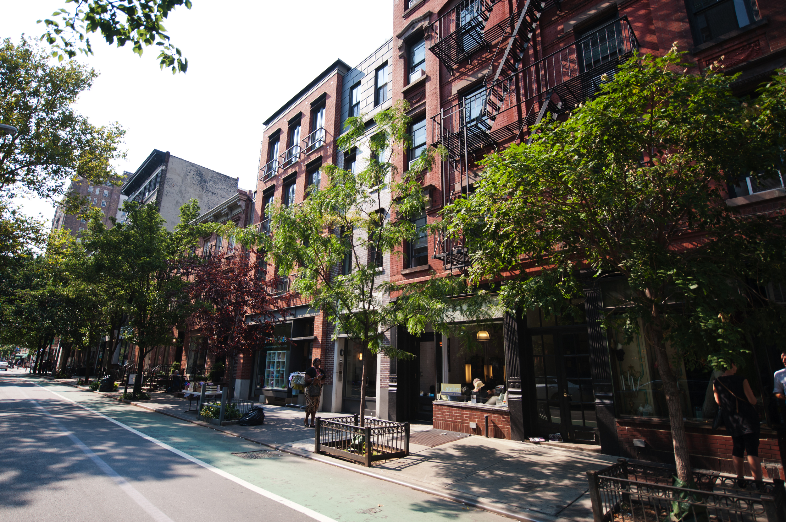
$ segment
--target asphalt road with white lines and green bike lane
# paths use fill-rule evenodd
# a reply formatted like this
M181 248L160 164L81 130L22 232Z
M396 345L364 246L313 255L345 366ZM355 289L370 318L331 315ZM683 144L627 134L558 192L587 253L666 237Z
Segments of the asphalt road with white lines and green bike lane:
M21 371L0 444L0 521L507 520Z

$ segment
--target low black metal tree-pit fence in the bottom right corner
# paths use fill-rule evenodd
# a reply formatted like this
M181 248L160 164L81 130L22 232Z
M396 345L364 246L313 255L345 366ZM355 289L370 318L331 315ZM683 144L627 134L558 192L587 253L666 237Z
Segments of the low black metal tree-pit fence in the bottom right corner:
M674 469L628 462L587 472L594 522L786 522L780 479L737 487L736 479L694 471L694 487L674 487Z

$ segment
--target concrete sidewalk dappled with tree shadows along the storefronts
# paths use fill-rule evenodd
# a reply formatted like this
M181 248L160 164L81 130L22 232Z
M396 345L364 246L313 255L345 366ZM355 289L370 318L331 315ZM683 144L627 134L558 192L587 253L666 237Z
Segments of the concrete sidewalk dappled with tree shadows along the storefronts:
M75 379L57 382L76 384ZM119 393L101 395L119 398ZM216 426L196 421L196 411L185 412L188 400L167 393L154 392L152 396L152 400L132 404L517 520L592 522L586 472L616 462L612 456L568 447L467 436L435 447L410 444L409 457L376 463L368 469L339 458L314 454L314 430L303 425L303 411L266 404L264 425ZM341 414L321 412L321 416L338 417ZM410 432L428 429L432 426L410 426Z

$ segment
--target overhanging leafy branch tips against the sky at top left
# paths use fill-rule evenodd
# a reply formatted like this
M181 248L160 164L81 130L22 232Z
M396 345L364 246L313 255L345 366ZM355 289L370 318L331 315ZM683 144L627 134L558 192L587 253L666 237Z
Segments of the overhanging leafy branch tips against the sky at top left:
M93 54L88 34L97 31L109 44L117 42L118 47L123 47L130 42L139 56L145 47L157 46L161 68L171 68L172 74L185 72L189 67L189 60L169 41L163 20L179 5L191 9L190 0L65 0L65 3L75 6L71 11L61 8L52 13L53 17L61 17L60 22L50 18L38 21L46 25L41 39L53 47L53 57L62 61L77 53Z

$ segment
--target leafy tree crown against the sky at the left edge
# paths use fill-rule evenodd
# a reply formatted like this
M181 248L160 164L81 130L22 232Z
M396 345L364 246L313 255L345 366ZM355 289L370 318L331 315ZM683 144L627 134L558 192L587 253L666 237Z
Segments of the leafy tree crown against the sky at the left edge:
M53 67L27 40L0 47L0 121L17 133L0 137L0 199L33 193L76 214L86 199L67 192L65 181L119 184L112 161L124 158L125 131L116 123L97 127L76 113L74 104L97 73L69 62Z

